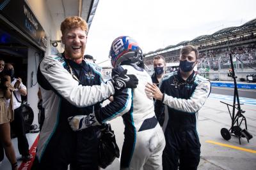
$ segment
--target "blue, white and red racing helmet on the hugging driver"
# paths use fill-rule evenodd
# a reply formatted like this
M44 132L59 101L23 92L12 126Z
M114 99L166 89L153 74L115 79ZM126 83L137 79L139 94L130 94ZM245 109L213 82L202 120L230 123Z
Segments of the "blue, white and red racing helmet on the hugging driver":
M138 43L129 36L120 36L116 38L110 48L109 58L113 67L122 62L136 63L143 65L143 54Z

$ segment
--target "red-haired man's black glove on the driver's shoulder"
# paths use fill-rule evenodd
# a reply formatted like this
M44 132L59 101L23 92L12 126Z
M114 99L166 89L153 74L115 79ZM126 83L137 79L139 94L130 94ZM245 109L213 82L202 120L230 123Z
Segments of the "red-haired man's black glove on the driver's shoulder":
M118 68L112 69L112 83L116 90L124 88L136 88L138 85L138 78L133 74L126 74L127 69L120 71Z

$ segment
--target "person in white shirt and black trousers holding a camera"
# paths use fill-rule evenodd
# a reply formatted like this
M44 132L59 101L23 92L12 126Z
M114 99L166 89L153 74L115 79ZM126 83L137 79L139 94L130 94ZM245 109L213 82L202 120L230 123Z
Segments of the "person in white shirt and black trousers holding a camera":
M28 139L26 138L25 122L20 110L21 96L27 95L27 88L22 83L21 78L14 77L14 68L11 63L6 63L5 74L11 77L12 86L14 87L13 92L13 109L14 109L14 120L11 123L12 131L17 135L19 153L22 155L21 159L28 161L32 158L29 153Z

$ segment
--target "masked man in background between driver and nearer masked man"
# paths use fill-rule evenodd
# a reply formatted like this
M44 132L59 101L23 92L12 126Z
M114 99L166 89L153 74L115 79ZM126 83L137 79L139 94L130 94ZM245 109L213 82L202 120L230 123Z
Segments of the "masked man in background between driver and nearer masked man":
M165 73L166 62L162 55L157 55L153 60L154 74L151 76L153 83L156 83L157 87L160 80L162 79Z

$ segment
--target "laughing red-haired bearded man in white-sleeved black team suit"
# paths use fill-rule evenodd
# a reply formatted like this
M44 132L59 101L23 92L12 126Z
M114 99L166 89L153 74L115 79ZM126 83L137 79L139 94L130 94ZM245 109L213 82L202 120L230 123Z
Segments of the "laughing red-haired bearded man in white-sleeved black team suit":
M136 87L134 75L113 70L106 83L83 59L88 27L81 17L68 17L61 23L65 52L44 57L38 66L45 120L40 132L33 169L98 170L98 139L95 128L74 132L67 118L90 115L95 104L125 87ZM127 80L127 77L129 80Z

